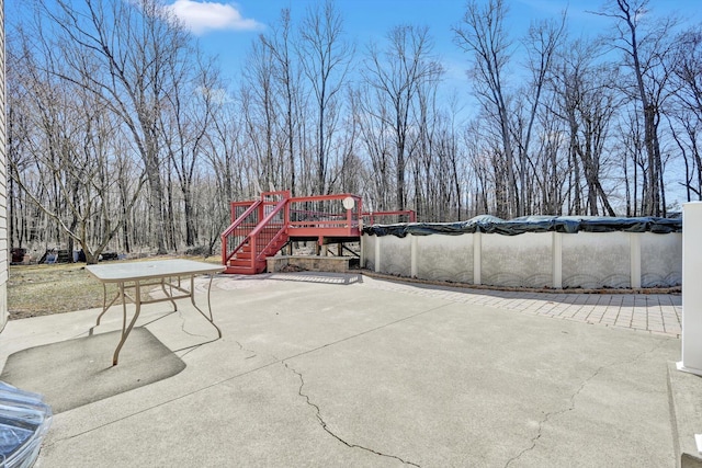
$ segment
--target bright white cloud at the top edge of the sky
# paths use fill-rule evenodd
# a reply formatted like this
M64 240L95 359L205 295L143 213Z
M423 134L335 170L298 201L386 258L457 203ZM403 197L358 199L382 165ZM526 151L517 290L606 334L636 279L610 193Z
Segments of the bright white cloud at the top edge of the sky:
M168 8L194 34L215 30L257 31L263 27L256 20L245 19L234 4L176 0Z

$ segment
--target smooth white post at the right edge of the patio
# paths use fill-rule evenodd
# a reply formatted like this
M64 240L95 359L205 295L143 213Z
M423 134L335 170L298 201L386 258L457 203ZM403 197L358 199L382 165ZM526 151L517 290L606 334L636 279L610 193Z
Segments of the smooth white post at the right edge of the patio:
M702 202L682 205L682 361L678 369L702 376Z

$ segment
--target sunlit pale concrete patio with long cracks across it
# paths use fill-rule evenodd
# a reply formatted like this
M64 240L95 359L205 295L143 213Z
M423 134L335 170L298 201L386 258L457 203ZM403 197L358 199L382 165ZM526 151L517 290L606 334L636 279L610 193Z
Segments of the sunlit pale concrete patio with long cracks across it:
M204 278L197 288L202 305ZM676 464L667 373L680 359L679 296L276 273L218 276L212 304L216 341L188 303L146 306L137 327L184 369L55 414L36 466ZM0 366L86 336L98 313L9 322ZM122 313L103 320L98 333ZM84 358L110 373L112 352ZM117 366L127 379L131 352Z

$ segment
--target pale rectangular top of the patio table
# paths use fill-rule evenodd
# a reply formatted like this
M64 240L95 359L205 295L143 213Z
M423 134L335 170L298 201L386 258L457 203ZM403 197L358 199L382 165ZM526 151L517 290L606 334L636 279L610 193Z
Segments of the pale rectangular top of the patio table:
M120 283L184 276L213 274L224 271L224 266L192 260L155 260L149 262L115 262L100 265L88 265L86 270L103 283Z

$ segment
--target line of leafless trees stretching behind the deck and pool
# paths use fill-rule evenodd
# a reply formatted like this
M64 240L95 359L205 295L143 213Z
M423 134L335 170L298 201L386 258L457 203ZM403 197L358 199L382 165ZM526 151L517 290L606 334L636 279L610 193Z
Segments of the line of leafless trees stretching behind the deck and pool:
M451 28L446 98L431 30L355 44L333 2L282 10L225 77L160 0L35 0L8 31L11 247L216 251L228 202L355 193L422 221L478 214L666 216L702 199L702 27L610 0L509 31L507 0Z

